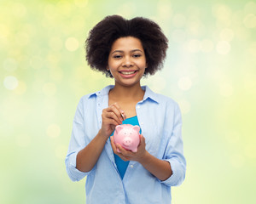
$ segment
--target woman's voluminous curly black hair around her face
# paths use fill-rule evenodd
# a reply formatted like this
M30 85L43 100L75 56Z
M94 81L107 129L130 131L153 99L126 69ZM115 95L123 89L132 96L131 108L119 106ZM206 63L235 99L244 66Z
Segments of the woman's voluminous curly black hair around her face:
M160 26L143 17L125 20L119 15L108 15L90 30L85 41L86 60L91 69L112 77L106 69L108 54L119 37L137 37L142 42L148 64L144 76L154 75L163 67L168 39Z

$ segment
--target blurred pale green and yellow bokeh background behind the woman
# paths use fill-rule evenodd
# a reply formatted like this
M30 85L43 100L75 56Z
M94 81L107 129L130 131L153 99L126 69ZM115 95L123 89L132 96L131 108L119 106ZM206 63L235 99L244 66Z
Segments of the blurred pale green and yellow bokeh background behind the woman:
M165 67L143 84L183 112L184 183L172 203L256 203L256 1L0 2L0 203L84 203L64 158L80 97L113 80L84 60L108 14L155 20ZM139 182L139 181L138 181Z

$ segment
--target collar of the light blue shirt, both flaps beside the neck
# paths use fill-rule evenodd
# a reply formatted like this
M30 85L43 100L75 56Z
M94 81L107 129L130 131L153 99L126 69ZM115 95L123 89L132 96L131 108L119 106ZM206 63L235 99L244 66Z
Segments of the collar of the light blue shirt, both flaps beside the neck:
M90 94L90 96L95 95L96 96L104 96L107 95L109 93L109 90L112 89L114 87L114 85L108 85L105 88L102 88L101 91L95 92L93 94ZM155 94L150 88L148 88L148 86L142 86L143 90L145 91L144 97L143 97L143 101L147 100L147 99L151 99L154 102L158 103L160 102L160 99L158 97L158 94Z

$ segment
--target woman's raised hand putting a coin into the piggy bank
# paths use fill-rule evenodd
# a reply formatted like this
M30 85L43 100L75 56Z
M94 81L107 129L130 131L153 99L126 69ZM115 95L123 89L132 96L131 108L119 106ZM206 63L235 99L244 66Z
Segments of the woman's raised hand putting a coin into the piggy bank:
M102 128L100 133L108 138L113 133L114 128L122 124L125 118L125 111L117 103L109 105L108 108L102 111Z

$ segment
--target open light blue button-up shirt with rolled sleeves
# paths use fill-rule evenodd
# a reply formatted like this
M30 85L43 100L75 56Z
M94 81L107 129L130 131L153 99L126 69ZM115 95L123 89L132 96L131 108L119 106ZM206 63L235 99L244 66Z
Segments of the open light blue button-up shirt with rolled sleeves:
M136 105L137 119L146 140L146 150L168 161L172 176L160 181L137 161L130 161L123 179L114 162L109 139L90 172L76 168L79 150L90 143L102 127L102 110L108 107L108 92L113 86L88 94L79 101L73 119L73 132L65 160L67 174L73 181L86 177L87 204L170 204L171 186L185 178L186 161L183 156L182 118L177 103L143 87L143 100Z

